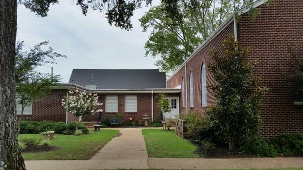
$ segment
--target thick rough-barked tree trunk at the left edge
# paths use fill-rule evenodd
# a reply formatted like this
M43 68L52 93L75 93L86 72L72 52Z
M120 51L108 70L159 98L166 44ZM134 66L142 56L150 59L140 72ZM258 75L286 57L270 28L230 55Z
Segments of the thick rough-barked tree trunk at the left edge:
M0 169L26 169L17 141L15 48L17 0L0 0Z

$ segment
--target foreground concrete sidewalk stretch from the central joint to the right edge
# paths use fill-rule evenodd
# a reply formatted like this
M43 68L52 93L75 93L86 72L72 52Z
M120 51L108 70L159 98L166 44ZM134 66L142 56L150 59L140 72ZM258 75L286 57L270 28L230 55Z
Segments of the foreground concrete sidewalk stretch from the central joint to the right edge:
M162 169L238 169L303 167L303 158L149 158L151 168Z

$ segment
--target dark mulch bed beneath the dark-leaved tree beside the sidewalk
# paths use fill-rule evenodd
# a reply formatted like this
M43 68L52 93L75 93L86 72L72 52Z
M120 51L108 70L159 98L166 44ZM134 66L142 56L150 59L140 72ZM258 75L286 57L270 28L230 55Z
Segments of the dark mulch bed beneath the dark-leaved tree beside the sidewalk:
M205 151L201 148L198 148L196 150L196 154L199 155L199 157L203 158L250 158L254 157L247 153L241 153L238 149L234 149L233 152L229 152L228 148L225 147L216 147L213 150Z

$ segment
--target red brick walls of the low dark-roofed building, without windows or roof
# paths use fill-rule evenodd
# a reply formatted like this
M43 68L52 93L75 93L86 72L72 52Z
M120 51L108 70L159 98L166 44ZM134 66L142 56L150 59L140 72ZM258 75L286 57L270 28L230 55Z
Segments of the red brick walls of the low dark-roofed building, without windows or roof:
M33 114L31 116L24 116L24 119L29 121L55 121L65 122L66 111L61 105L62 98L66 95L67 90L53 90L39 101L33 103ZM98 101L103 105L97 106L97 109L104 110L102 117L115 117L115 113L105 112L105 96L118 95L118 112L122 114L122 121L129 122L129 118L133 121L143 121L143 115L147 114L151 121L151 94L98 94ZM124 96L137 95L138 97L138 111L124 112ZM179 96L180 94L167 94L167 96ZM154 118L160 118L160 111L157 108L157 94L154 94ZM82 117L83 122L96 122L97 114ZM68 121L75 121L73 115L68 114Z

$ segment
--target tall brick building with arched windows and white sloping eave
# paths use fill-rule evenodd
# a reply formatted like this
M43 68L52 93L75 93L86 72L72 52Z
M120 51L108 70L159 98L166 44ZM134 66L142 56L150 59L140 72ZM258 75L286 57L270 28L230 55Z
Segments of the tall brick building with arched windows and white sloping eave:
M260 134L273 137L280 133L303 133L303 109L294 104L291 83L286 80L294 67L288 46L303 56L303 1L258 1L252 6L260 14L251 20L241 9L240 18L230 17L213 35L198 47L167 80L167 88L179 87L181 113L205 114L215 103L207 85L215 83L207 66L212 63L210 49L222 54L221 44L233 34L243 47L250 48L248 60L259 60L254 75L261 77L260 86L269 88L262 99Z

